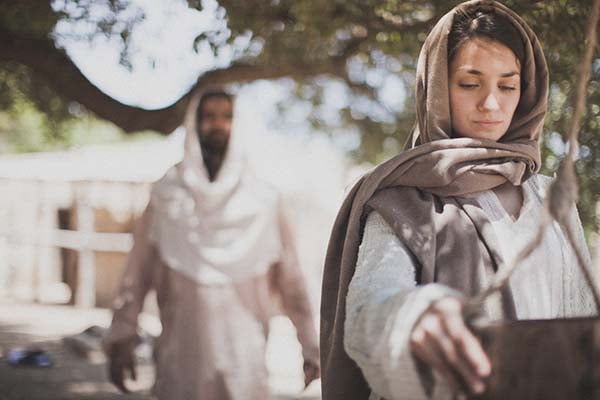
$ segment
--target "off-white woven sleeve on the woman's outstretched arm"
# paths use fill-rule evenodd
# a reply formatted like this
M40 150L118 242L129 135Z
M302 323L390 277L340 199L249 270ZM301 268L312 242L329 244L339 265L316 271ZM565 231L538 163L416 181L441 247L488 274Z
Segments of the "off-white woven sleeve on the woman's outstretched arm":
M391 227L369 214L346 300L344 346L371 390L386 399L426 399L409 349L414 324L454 290L417 286L415 264Z

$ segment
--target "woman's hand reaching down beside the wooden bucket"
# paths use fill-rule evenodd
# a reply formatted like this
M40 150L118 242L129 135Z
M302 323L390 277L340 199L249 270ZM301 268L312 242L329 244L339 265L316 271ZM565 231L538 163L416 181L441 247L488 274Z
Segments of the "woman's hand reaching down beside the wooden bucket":
M481 394L485 390L492 366L481 343L465 325L460 300L446 297L433 303L413 328L410 348L455 392Z

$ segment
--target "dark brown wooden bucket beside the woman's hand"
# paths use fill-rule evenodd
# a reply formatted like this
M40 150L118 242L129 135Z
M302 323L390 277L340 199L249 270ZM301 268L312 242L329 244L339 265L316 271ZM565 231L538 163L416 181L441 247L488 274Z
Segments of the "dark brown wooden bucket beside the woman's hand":
M494 365L476 399L600 399L599 318L516 321L476 332Z

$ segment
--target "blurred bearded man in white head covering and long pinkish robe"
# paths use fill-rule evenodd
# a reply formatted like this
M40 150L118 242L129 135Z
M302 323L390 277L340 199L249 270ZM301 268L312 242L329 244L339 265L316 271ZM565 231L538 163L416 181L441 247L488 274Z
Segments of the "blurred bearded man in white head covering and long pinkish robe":
M104 348L111 381L135 379L138 314L157 292L159 399L266 399L265 344L274 296L296 327L305 384L319 350L304 277L276 190L249 169L231 134L233 98L191 102L183 160L152 188L138 222Z

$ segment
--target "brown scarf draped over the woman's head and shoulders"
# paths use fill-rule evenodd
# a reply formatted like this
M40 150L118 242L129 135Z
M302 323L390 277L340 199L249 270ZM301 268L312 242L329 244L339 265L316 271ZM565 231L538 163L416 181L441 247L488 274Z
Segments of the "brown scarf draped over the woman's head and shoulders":
M479 10L507 17L525 47L521 66L525 90L507 133L498 142L451 138L448 33L455 15ZM503 261L485 216L462 196L506 181L520 185L539 170L538 139L547 94L548 71L538 39L502 4L489 0L462 3L433 28L417 65L417 127L410 149L379 165L354 186L333 227L321 303L324 400L367 399L370 393L343 345L346 294L366 215L377 210L390 224L414 256L420 283L441 282L466 295L480 291L484 275L494 273ZM504 310L510 314L510 304L504 304Z

